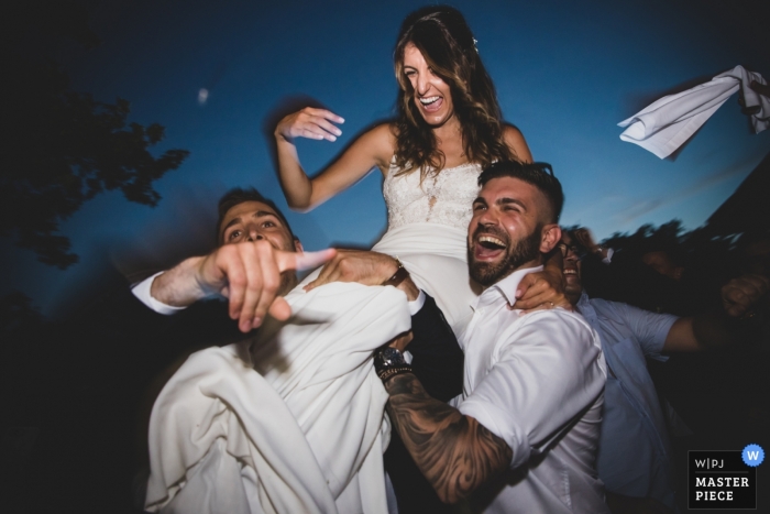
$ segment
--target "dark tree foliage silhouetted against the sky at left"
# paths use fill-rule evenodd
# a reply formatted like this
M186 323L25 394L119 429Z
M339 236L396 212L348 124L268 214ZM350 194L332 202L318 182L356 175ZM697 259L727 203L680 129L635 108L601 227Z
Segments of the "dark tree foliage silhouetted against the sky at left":
M87 11L66 12L64 21L48 13L21 22L24 30L72 37L84 47L98 44ZM48 30L52 23L58 32ZM13 237L41 262L66 269L78 256L69 251L69 239L56 233L63 220L105 190L120 189L130 201L157 205L153 182L178 168L189 152L167 150L155 157L150 149L164 138L161 124L128 122L127 100L108 103L73 91L67 73L47 55L31 55L23 44L9 46L0 103L0 236Z

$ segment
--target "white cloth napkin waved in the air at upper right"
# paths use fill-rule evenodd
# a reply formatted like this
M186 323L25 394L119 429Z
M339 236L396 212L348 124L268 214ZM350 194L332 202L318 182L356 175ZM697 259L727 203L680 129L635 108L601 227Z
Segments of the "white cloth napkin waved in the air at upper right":
M767 84L761 75L736 66L676 95L657 100L627 120L618 123L628 127L620 139L649 150L666 158L680 147L734 92L741 88L754 130L759 133L770 127L770 99L751 89L751 80Z

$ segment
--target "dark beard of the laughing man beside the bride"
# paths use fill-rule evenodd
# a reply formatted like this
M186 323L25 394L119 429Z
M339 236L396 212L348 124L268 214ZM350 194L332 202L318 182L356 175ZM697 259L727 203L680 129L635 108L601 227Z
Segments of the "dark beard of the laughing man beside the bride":
M540 255L540 238L542 225L538 223L535 230L529 236L520 239L514 247L510 245L508 234L503 230L490 230L479 226L473 233L471 241L475 241L476 237L483 233L488 233L503 241L508 242L506 253L503 259L496 262L476 262L473 247L468 248L468 264L470 266L471 278L483 286L488 286L505 278L514 271L518 270L522 264L534 261Z

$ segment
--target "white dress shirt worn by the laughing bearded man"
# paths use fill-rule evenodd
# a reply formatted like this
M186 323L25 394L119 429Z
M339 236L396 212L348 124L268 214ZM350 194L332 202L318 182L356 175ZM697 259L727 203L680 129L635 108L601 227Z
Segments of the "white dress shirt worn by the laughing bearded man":
M596 332L560 308L510 309L518 270L488 287L460 345L465 352L458 408L505 440L510 470L472 500L490 513L604 513L595 471L606 367Z

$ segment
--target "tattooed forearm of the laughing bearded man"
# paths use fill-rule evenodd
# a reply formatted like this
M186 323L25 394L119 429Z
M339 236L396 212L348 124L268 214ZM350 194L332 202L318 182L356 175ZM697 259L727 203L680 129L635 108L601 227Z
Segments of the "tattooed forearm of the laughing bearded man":
M411 373L385 383L387 411L439 497L454 503L510 463L513 451L472 417L435 400Z

